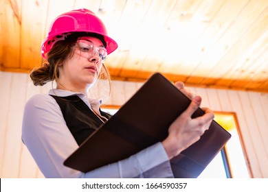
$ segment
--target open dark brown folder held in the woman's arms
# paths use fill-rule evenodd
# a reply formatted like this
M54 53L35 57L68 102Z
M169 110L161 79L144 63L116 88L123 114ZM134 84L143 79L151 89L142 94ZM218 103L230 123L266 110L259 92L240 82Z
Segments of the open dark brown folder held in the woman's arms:
M154 73L109 121L65 160L64 165L87 172L163 141L168 136L169 125L189 104L190 99L166 77ZM199 108L192 117L203 113ZM212 121L199 141L170 160L175 178L197 178L230 137L229 132Z

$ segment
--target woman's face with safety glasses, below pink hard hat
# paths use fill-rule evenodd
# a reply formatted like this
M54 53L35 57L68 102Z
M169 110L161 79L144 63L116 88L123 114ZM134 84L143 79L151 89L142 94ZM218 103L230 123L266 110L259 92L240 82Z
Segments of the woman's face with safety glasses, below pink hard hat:
M98 79L107 52L101 40L89 36L78 38L72 49L74 55L58 68L59 81L69 90L85 90Z

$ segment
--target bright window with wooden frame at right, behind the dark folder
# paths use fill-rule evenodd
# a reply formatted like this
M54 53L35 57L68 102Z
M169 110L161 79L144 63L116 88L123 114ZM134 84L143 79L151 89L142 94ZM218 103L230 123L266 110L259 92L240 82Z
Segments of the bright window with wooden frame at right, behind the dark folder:
M212 160L199 178L249 178L243 139L234 113L215 112L214 120L232 134L221 152Z

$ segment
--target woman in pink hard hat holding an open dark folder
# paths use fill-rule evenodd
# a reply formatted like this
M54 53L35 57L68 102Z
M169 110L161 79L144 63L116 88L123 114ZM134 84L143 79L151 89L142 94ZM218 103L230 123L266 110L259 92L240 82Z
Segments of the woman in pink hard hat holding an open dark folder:
M204 109L205 115L191 119L201 97L192 97L177 82L175 86L192 102L170 125L164 141L87 173L65 167L64 160L110 117L100 110L100 100L87 93L98 78L109 79L103 62L117 47L102 21L89 10L72 10L52 22L41 48L47 62L30 77L36 86L55 80L56 88L27 101L22 128L23 143L46 178L172 178L169 160L209 128L212 111Z

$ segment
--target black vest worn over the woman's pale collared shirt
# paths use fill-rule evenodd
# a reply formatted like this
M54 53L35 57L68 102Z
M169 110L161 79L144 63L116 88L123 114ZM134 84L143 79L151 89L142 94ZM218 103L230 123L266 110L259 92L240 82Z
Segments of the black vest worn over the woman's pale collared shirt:
M78 95L67 97L50 96L52 96L57 101L58 106L60 106L66 125L78 145L85 141L89 135L98 130L100 125L103 124ZM111 117L111 115L102 110L100 110L100 114L107 119Z

